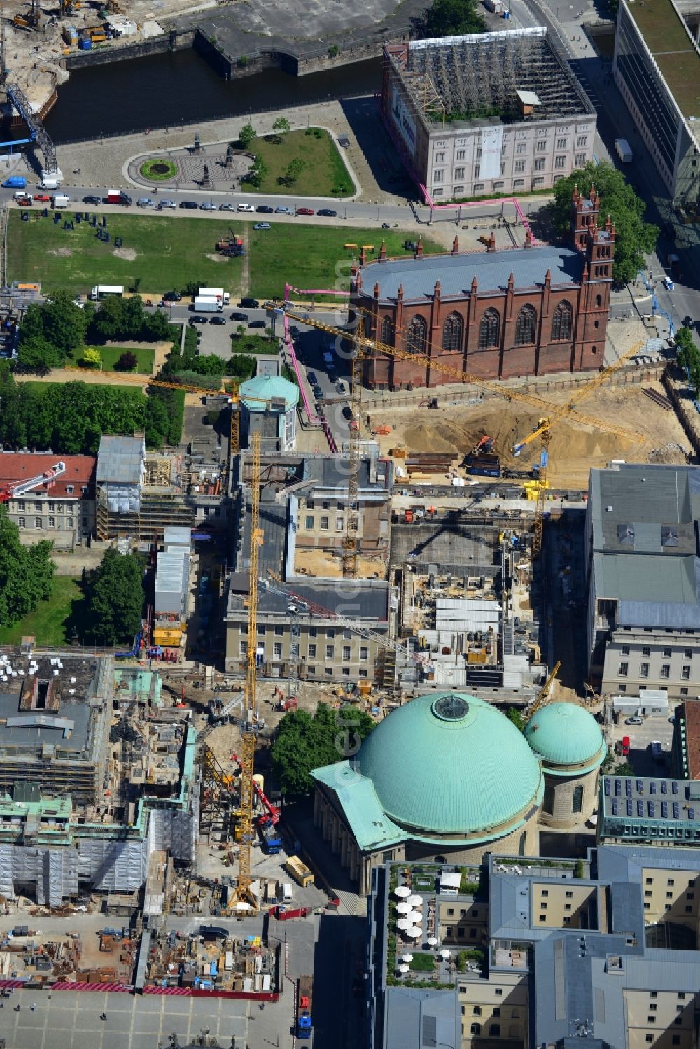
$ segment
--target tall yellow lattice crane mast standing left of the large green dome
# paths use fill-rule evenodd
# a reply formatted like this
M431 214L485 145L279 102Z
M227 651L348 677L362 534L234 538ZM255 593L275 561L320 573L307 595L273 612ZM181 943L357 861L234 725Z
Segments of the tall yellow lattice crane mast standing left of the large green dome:
M253 434L253 470L251 475L251 543L250 590L248 604L248 651L246 654L246 690L243 734L240 746L238 899L257 911L257 900L251 892L251 847L255 838L253 827L253 772L255 771L255 733L257 727L257 592L258 548L260 531L260 434Z

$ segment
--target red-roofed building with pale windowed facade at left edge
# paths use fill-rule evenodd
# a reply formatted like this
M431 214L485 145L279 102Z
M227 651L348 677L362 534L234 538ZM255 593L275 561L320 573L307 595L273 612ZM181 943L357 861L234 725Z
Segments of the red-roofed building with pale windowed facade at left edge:
M7 515L20 532L48 536L71 547L94 531L94 455L55 455L52 452L0 452L0 488L21 484L56 465L65 472L5 502Z

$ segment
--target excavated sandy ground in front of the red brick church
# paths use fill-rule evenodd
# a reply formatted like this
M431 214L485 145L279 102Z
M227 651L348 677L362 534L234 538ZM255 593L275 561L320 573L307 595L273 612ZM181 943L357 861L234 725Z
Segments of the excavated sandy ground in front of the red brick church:
M644 387L663 393L658 382ZM568 391L549 394L549 401L566 404ZM588 488L589 470L606 466L611 459L638 463L684 463L690 442L673 411L664 411L643 392L642 386L614 386L597 390L580 404L580 411L628 431L625 436L594 431L588 426L558 421L552 427L550 443L550 484L557 488ZM404 445L408 452L454 451L462 456L471 451L485 433L495 438L494 451L502 466L528 469L539 457L539 443L533 441L519 457L510 449L537 424L543 412L527 404L488 399L469 407L450 406L421 413L416 410L382 408L381 421L391 426L388 436L378 440L382 453ZM419 416L420 418L420 416ZM397 459L401 464L401 459ZM443 478L444 483L444 478Z

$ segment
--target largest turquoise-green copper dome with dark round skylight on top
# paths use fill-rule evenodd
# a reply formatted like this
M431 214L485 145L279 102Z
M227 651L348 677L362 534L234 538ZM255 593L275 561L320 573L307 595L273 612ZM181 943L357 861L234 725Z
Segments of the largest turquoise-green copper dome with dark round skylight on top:
M495 707L464 692L399 707L352 765L383 812L419 834L499 829L539 801L542 771L525 737Z

